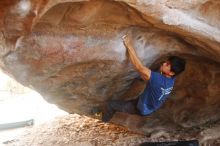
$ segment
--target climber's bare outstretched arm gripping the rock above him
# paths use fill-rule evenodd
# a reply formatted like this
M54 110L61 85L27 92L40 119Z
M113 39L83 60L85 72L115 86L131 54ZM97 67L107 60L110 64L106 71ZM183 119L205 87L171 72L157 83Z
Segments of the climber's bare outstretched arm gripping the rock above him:
M140 59L138 58L133 45L130 41L130 36L129 35L125 35L123 36L123 41L124 41L124 45L128 50L128 55L130 58L130 61L132 62L132 64L135 66L135 69L140 73L141 77L147 81L150 79L150 75L151 75L151 70L147 67L145 67Z

